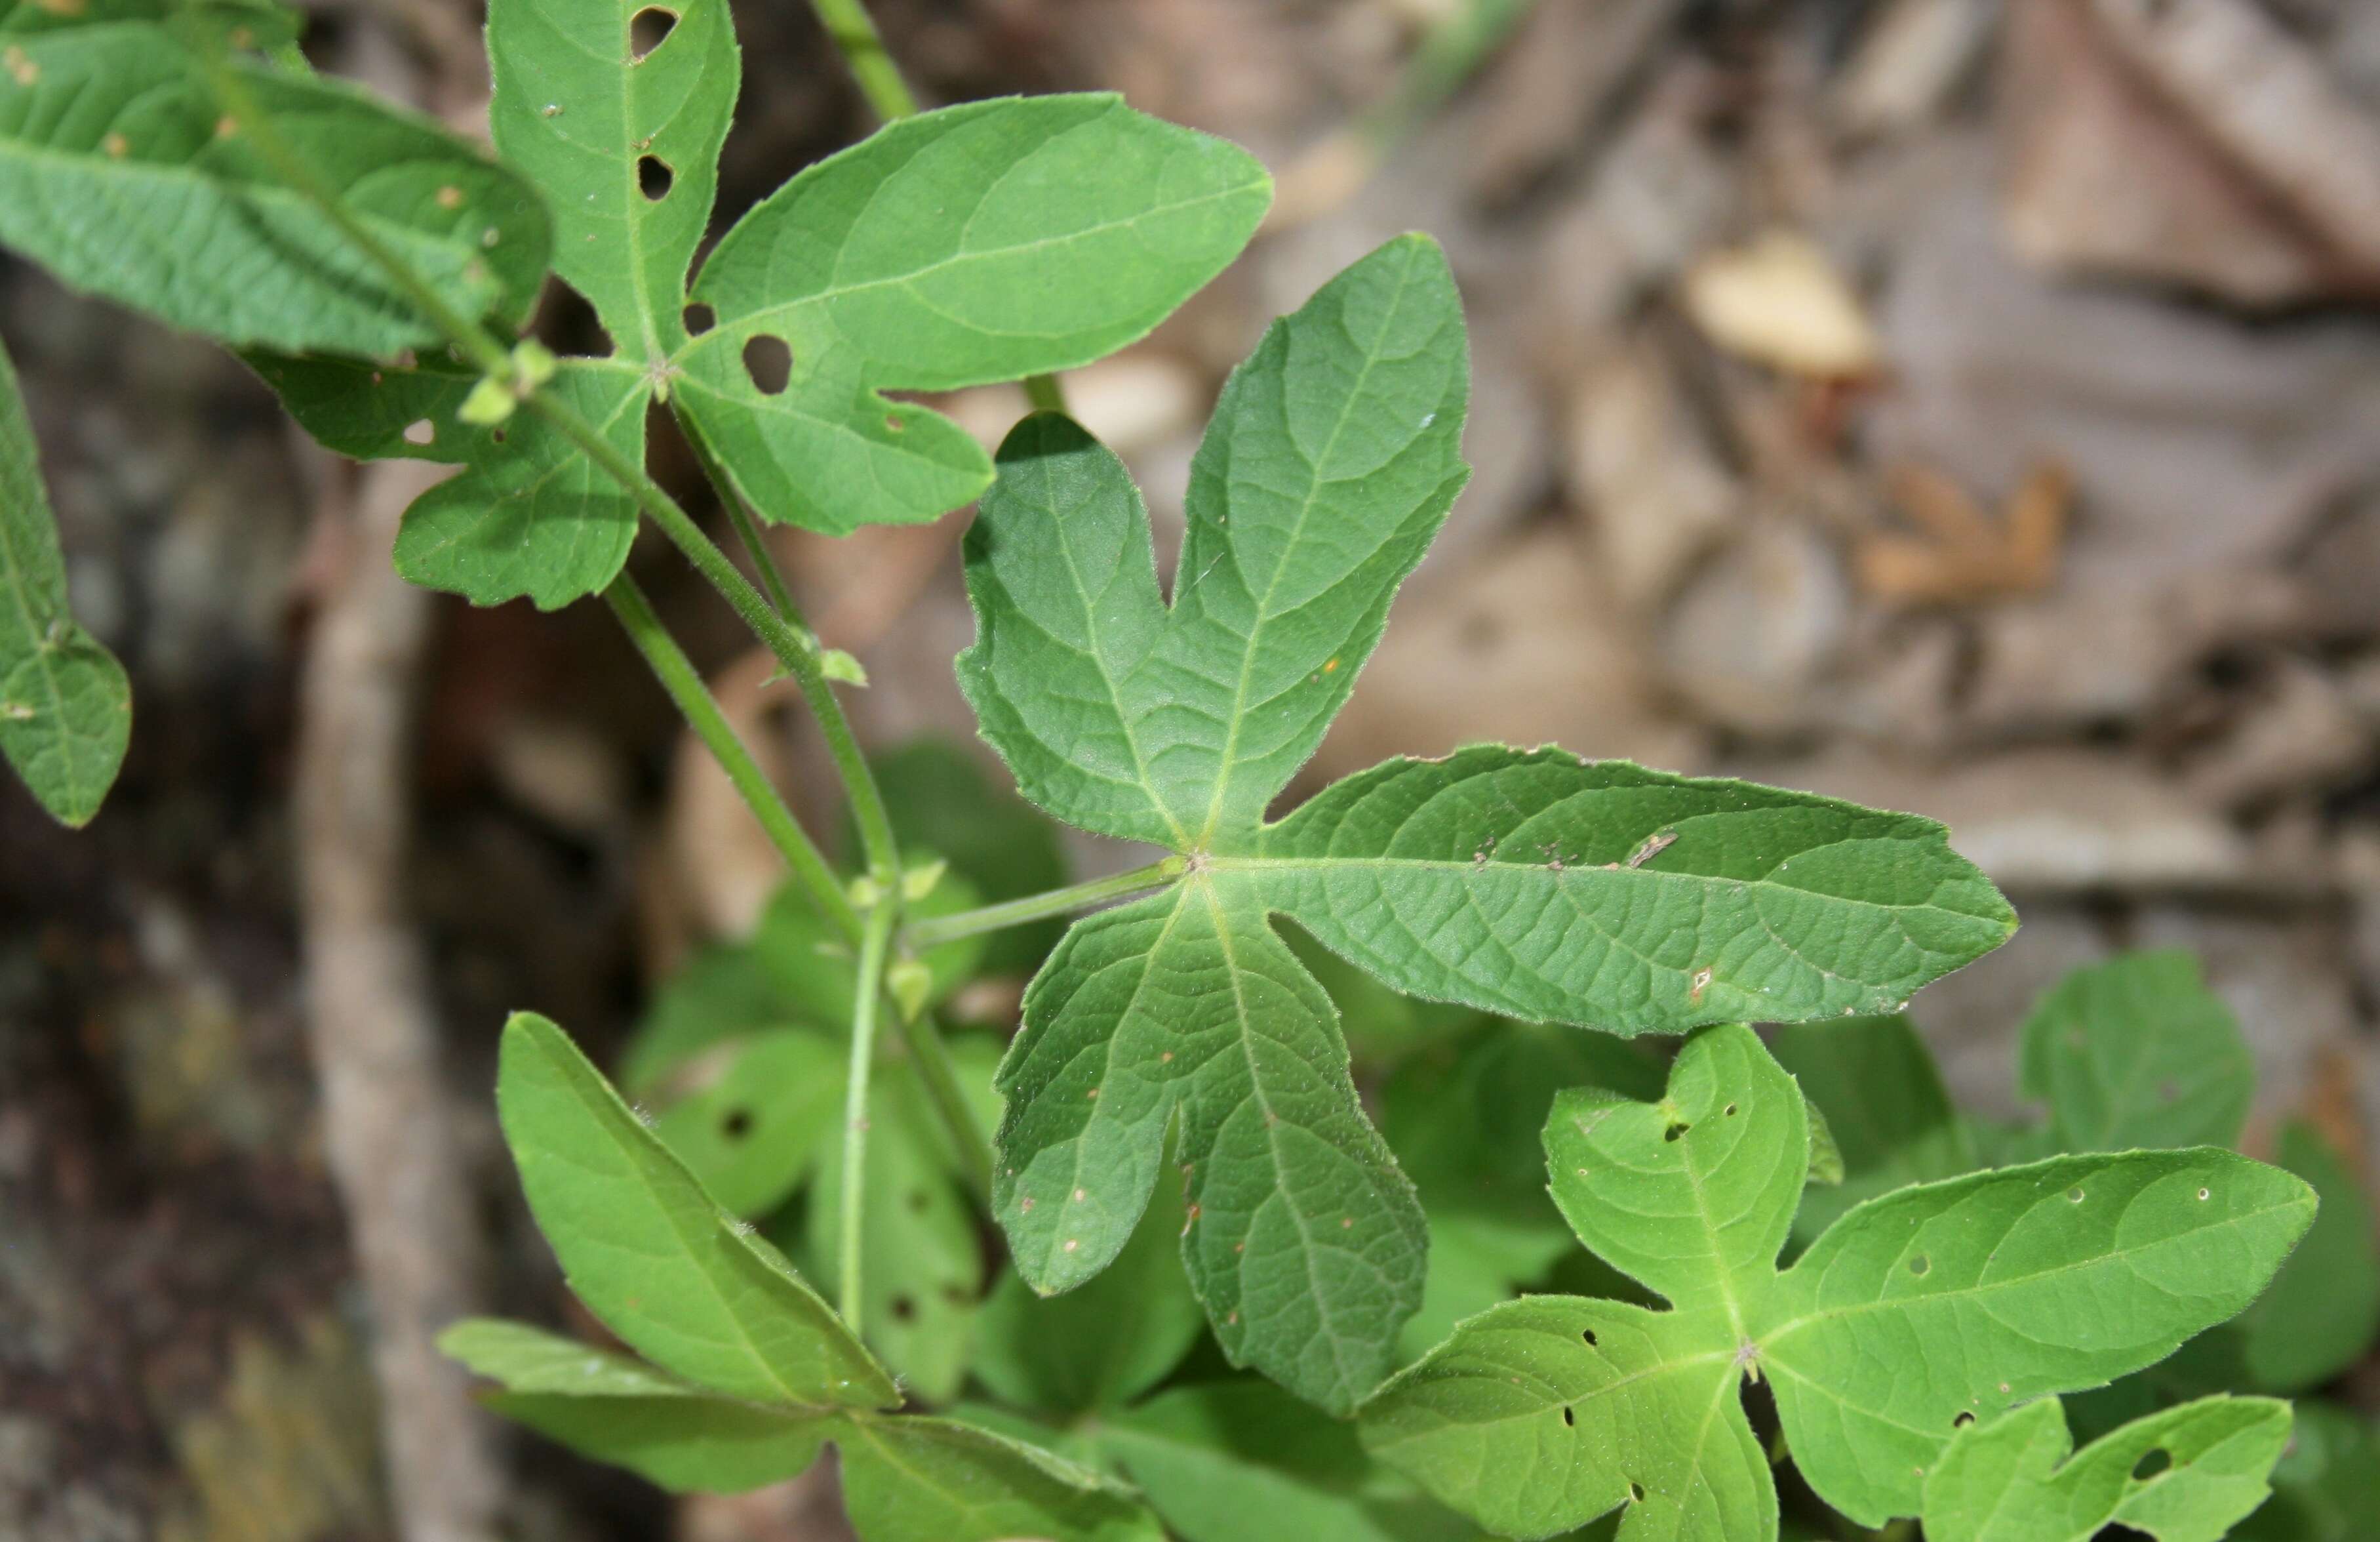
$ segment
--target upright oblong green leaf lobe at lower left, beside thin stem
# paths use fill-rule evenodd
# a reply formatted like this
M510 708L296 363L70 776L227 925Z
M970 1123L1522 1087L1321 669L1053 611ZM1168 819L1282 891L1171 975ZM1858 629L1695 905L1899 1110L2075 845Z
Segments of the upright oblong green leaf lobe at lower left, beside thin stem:
M633 1349L757 1404L900 1402L826 1302L702 1192L559 1028L533 1014L505 1026L495 1099L564 1278Z

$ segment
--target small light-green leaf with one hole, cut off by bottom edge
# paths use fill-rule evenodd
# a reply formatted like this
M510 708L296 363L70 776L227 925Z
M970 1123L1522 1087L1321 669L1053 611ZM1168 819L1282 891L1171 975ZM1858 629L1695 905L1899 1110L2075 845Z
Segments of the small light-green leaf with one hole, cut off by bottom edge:
M2263 1504L2290 1444L2290 1404L2204 1397L2080 1452L2059 1402L1961 1430L1925 1475L1925 1542L2090 1542L2106 1525L2156 1542L2221 1542Z

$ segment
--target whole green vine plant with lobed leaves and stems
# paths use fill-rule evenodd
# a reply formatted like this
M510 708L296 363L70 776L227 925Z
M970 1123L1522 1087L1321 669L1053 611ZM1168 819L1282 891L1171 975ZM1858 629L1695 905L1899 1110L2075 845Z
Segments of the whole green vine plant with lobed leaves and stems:
M871 1542L1461 1535L1440 1504L1521 1537L1599 1516L1773 1537L1787 1456L1795 1504L1944 1542L2111 1521L2180 1542L2254 1509L2287 1404L2140 1375L2249 1309L2313 1221L2306 1180L2221 1149L2237 1080L2182 1099L2202 1118L2168 1140L2052 1030L2025 1085L2054 1123L1992 1135L2002 1166L1968 1126L1894 1123L1925 1107L1906 1087L1852 1099L1837 1135L1806 1087L1923 1090L1890 1014L2016 926L1925 819L1504 745L1271 819L1468 474L1445 257L1392 240L1264 333L1192 462L1169 593L1140 493L1052 376L1214 278L1264 169L1111 95L919 114L866 14L816 10L888 121L695 269L740 74L726 0L490 0L502 159L314 79L290 12L0 2L0 240L236 347L333 450L459 466L405 514L397 569L478 604L602 597L790 871L631 1052L657 1118L545 1018L505 1028L528 1206L633 1354L457 1325L493 1402L674 1487L793 1475L833 1442ZM547 274L607 355L526 336ZM1040 412L997 462L888 395L1000 381ZM757 583L647 476L652 407ZM81 823L129 692L67 614L5 362L0 497L0 750ZM1159 847L1147 866L1066 885L1045 826L950 823L995 800L964 766L871 764L838 702L864 673L762 543L978 497L957 673L983 738L1026 800ZM793 819L628 578L643 521L812 707L862 871ZM935 819L940 857L900 840ZM1019 930L1107 902L1054 947ZM1026 935L1014 1042L945 1035L940 1004ZM2071 1038L2116 1018L2073 1009ZM1414 1071L1380 1107L1418 1190L1349 1076L1345 1033L1388 1021ZM1745 1021L1802 1028L1773 1054ZM2118 1023L2113 1052L2159 1054L2161 1026ZM1628 1035L1685 1040L1664 1078ZM1518 1178L1540 1126L1597 1259L1568 1275ZM1547 1275L1597 1295L1507 1299ZM1159 1390L1209 1335L1209 1373ZM2075 1406L2140 1418L2071 1454L2059 1394L2106 1383L2130 1392Z

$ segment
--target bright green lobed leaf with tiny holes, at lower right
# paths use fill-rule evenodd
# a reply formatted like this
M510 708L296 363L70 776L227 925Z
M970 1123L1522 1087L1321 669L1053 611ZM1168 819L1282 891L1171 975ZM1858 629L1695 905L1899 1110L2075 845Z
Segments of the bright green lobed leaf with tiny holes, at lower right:
M1687 1040L1659 1102L1554 1104L1554 1199L1668 1311L1533 1297L1402 1373L1364 1437L1507 1535L1628 1506L1621 1540L1775 1535L1737 1399L1766 1375L1802 1478L1861 1525L1916 1513L1966 1423L2104 1383L2244 1306L2313 1195L2230 1152L2068 1156L1906 1187L1778 1273L1804 1102L1747 1028Z

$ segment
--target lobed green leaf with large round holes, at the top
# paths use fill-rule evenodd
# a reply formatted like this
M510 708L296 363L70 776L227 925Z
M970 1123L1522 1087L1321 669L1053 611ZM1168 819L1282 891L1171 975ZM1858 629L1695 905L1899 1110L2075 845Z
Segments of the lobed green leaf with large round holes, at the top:
M1111 95L971 102L795 176L721 238L688 293L735 43L726 2L702 0L635 55L635 17L652 10L490 7L497 143L552 200L555 264L616 343L609 359L566 359L550 390L628 459L643 457L647 407L671 400L766 519L847 533L976 497L990 483L981 445L881 393L1088 364L1221 271L1271 198L1238 148ZM700 336L688 300L712 316ZM469 466L407 512L407 578L552 609L626 562L635 502L536 414L459 421L474 376L452 362L255 364L336 450Z

